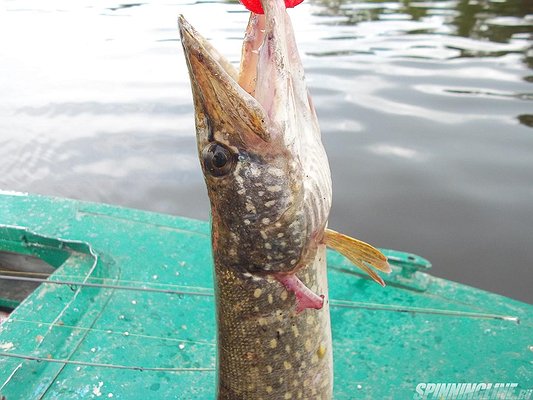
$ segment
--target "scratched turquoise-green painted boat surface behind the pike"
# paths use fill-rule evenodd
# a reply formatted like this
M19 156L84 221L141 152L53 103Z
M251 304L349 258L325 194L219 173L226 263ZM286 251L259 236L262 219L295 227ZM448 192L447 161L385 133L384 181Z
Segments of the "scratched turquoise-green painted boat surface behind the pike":
M0 226L0 251L56 268L0 326L0 398L214 397L208 223L5 193ZM335 399L413 398L419 382L533 386L532 306L386 252L384 289L328 254Z

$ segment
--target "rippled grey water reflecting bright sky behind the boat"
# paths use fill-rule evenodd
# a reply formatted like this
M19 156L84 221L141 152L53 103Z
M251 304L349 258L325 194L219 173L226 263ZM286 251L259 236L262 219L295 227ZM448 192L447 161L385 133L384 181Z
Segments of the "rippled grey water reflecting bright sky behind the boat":
M0 188L206 219L176 16L237 62L242 6L4 4ZM306 0L291 15L330 225L532 302L532 3Z

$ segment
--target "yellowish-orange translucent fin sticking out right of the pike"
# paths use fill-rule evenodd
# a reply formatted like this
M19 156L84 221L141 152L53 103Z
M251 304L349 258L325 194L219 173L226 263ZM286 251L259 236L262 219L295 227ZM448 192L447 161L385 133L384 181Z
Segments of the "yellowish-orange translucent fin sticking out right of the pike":
M368 243L361 242L360 240L346 236L331 229L325 230L324 242L326 243L326 246L337 250L357 267L365 271L381 286L385 286L383 279L381 279L381 277L369 267L370 265L371 267L374 267L377 270L387 274L391 272L390 265L387 262L387 257L385 257L381 251L369 245Z

